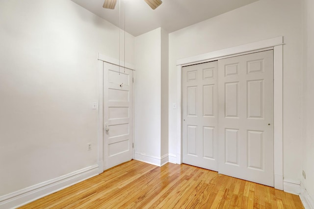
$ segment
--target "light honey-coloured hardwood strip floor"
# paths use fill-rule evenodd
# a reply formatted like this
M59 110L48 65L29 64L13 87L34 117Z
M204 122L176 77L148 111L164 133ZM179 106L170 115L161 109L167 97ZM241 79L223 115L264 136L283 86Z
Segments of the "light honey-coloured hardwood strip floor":
M20 209L303 209L272 187L189 165L136 160Z

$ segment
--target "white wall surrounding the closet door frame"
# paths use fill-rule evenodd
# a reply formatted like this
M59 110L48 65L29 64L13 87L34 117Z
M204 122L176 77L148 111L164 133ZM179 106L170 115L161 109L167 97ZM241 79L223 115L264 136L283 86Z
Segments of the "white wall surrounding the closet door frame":
M301 179L301 2L259 0L169 34L169 103L177 101L178 59L283 35L284 178ZM177 154L177 112L169 108L169 154Z

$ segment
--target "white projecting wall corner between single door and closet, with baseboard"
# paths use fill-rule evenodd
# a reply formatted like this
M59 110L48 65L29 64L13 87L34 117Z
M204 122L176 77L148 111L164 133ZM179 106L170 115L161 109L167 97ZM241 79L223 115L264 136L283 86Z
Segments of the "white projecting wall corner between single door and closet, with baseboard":
M168 33L135 37L135 159L168 161Z

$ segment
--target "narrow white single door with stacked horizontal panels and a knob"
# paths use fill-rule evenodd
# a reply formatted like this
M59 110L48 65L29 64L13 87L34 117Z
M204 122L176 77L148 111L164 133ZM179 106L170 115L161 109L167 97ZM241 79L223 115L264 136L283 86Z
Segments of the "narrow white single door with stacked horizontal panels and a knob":
M104 169L133 157L133 72L104 62Z

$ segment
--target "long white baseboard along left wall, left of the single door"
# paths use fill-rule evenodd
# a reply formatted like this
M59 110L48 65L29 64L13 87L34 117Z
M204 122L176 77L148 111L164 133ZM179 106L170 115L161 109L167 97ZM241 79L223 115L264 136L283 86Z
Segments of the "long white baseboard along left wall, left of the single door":
M15 209L85 179L98 175L98 165L51 179L0 197L0 209Z

